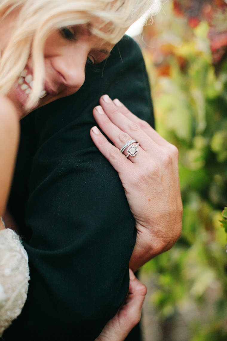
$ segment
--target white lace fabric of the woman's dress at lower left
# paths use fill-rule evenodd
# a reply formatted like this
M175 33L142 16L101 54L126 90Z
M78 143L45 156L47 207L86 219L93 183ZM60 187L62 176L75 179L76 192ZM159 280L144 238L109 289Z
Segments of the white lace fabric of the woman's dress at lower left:
M28 255L10 228L0 231L0 336L20 314L29 281Z

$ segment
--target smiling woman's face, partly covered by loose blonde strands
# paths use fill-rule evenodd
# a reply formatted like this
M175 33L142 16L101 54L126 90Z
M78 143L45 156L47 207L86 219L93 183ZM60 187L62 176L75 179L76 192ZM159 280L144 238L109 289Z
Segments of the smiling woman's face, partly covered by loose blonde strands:
M1 52L9 41L16 16L17 13L11 13L0 24ZM113 45L92 35L89 28L89 25L63 28L48 37L44 49L44 88L36 107L78 91L84 83L86 64L100 63L109 56ZM27 114L24 107L31 92L32 82L33 68L29 59L8 95L16 106L20 119Z

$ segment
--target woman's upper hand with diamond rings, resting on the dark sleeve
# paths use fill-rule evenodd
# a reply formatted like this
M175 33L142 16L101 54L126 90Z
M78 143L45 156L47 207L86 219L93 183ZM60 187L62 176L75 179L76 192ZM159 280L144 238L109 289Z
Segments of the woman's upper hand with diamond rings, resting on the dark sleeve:
M130 267L136 270L151 258L169 250L181 233L182 202L178 174L178 150L150 125L107 95L93 110L102 131L113 146L93 127L91 136L117 170L135 218L137 238ZM121 149L130 140L133 152ZM137 149L137 152L136 152Z

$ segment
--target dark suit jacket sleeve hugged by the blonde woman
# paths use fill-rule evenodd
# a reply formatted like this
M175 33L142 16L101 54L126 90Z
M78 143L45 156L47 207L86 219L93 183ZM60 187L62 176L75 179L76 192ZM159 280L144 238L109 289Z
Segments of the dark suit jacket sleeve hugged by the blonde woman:
M21 122L9 208L31 281L5 341L94 340L127 295L134 219L117 172L90 137L104 93L153 124L143 57L127 36L86 70L76 94Z

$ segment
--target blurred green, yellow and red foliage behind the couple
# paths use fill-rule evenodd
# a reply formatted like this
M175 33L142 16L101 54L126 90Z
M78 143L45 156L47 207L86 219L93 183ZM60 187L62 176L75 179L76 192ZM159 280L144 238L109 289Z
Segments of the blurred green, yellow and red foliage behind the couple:
M165 2L136 37L156 129L179 149L183 201L179 241L141 271L144 341L227 340L226 2Z

